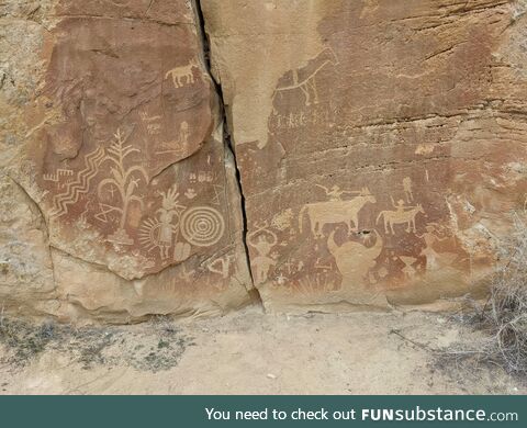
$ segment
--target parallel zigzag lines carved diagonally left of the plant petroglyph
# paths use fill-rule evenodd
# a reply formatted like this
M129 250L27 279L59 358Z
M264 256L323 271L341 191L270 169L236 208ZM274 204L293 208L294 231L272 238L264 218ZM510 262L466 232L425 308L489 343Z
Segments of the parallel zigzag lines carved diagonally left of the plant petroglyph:
M99 167L104 160L104 148L99 146L85 157L86 168L77 173L74 181L68 182L63 193L53 199L51 215L60 217L68 213L68 206L77 203L81 194L88 193L91 180L99 172Z

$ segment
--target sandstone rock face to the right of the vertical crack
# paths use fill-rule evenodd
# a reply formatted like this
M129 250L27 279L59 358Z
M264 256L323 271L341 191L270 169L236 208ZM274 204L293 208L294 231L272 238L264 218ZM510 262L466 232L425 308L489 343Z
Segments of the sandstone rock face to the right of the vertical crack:
M265 305L475 292L524 209L525 1L202 8Z

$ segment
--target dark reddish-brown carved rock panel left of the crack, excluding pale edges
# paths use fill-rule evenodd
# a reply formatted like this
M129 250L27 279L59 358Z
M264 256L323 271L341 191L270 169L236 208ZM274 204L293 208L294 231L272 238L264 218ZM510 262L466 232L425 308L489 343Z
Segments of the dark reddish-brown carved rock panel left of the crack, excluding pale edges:
M180 286L235 284L247 299L239 195L193 2L60 1L56 13L24 185L57 260L122 283L178 267Z

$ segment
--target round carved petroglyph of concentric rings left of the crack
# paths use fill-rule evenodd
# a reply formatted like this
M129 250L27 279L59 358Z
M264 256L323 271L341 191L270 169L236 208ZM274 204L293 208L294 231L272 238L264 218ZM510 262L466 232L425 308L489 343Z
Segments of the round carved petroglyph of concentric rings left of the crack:
M181 235L197 247L210 247L223 237L225 222L211 206L194 206L181 215Z

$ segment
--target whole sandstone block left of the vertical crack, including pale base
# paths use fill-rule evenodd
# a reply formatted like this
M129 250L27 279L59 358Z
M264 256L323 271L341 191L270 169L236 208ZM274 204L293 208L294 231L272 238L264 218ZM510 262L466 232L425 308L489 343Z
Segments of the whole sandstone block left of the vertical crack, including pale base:
M33 61L18 61L21 41L3 47L2 164L47 225L45 238L25 236L26 221L18 239L41 245L45 260L23 260L40 282L53 268L56 315L133 320L248 303L238 183L193 2L46 5L53 22L22 41ZM43 4L2 8L14 38L8 25L31 26ZM2 269L18 262L8 255ZM9 281L7 297L36 288Z

